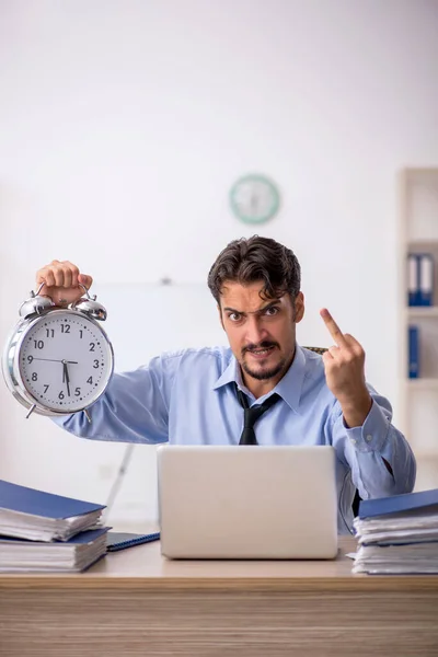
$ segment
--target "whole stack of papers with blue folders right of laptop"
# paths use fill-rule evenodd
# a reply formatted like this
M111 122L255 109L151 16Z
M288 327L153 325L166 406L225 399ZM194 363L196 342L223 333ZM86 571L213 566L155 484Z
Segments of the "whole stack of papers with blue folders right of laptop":
M354 573L438 574L438 488L364 500L354 527Z

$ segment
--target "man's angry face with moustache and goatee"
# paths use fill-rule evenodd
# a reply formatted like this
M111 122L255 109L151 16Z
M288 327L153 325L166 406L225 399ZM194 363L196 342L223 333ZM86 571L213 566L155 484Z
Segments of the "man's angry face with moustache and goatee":
M244 379L269 381L274 388L292 361L296 323L304 314L304 298L300 292L293 308L289 295L263 299L263 287L262 281L245 286L226 281L219 312Z

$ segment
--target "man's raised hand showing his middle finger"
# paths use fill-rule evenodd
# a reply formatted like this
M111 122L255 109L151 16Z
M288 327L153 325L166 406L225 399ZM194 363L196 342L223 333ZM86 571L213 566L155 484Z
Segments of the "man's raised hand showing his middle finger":
M349 427L364 424L372 400L365 380L365 351L353 335L343 333L326 308L320 312L334 345L323 355L325 380L338 400Z

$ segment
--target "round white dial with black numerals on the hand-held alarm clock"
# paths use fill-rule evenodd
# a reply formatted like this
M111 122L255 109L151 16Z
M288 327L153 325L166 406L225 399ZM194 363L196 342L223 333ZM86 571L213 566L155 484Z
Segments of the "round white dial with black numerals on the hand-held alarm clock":
M23 335L16 357L28 394L60 413L93 403L113 372L113 350L105 333L71 311L38 318Z

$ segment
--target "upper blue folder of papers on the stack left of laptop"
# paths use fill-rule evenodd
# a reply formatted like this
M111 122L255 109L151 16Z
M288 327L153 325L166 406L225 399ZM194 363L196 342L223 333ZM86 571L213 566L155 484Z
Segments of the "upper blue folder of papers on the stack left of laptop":
M99 527L104 505L0 480L0 534L31 541L68 541Z

